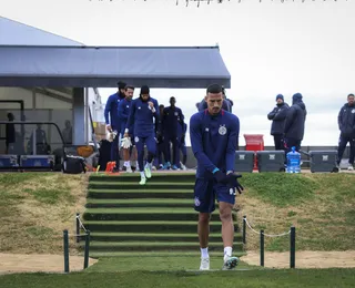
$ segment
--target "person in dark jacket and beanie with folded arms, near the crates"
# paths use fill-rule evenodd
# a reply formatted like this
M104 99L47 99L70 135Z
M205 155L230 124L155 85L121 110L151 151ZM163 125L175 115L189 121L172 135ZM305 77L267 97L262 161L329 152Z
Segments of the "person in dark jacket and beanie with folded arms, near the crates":
M267 114L267 119L272 121L271 135L274 136L275 150L284 150L283 134L288 107L284 102L284 96L278 94L276 107Z

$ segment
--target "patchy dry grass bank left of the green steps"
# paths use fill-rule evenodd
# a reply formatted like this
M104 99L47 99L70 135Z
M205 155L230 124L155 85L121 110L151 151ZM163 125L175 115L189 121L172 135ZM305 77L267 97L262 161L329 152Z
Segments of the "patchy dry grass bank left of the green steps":
M61 254L62 230L83 212L85 175L0 174L0 251ZM75 253L71 238L71 253Z

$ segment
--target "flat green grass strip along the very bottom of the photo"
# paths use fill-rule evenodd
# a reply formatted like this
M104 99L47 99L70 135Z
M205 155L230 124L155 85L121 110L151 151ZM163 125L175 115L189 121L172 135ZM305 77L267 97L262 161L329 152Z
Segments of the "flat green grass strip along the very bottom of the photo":
M4 288L294 288L354 287L355 269L325 270L240 270L240 271L126 271L70 275L0 276Z

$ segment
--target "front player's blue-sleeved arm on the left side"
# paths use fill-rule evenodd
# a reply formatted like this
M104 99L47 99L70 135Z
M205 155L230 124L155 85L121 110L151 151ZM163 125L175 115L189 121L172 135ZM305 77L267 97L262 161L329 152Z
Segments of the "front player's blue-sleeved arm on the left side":
M195 114L190 119L190 140L193 154L197 160L197 165L204 167L211 173L214 173L217 167L211 162L203 151L203 140L200 128L199 114Z

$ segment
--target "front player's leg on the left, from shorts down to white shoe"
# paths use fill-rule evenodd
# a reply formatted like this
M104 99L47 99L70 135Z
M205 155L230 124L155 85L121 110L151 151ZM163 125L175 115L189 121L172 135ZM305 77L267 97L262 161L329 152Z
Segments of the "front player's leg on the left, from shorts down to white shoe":
M210 269L209 236L211 213L215 209L213 182L196 179L194 186L194 208L199 212L197 233L201 250L200 270Z

